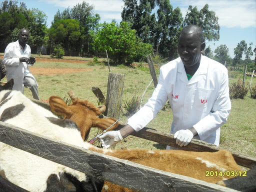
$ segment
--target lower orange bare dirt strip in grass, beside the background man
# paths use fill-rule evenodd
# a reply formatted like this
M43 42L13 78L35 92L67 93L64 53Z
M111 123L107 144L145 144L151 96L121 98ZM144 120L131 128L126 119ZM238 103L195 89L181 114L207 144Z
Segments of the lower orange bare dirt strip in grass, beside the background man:
M66 74L71 72L81 72L81 71L90 71L90 68L42 68L42 67L30 67L30 72L32 74Z

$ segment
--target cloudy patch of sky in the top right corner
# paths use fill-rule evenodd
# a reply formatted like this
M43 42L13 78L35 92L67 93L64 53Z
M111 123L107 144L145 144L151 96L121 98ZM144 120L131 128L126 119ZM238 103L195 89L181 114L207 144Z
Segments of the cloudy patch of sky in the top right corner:
M178 2L178 1L175 1ZM225 27L256 27L255 0L182 0L180 9L185 16L189 5L200 10L205 4L218 16L218 23Z

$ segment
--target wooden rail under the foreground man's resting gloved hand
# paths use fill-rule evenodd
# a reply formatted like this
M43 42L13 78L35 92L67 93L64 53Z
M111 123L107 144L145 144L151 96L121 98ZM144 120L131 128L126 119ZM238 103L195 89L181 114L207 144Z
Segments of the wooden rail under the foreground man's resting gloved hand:
M117 129L120 129L125 124L126 123L119 121L119 126L117 127ZM158 143L166 144L169 146L174 146L174 147L182 149L182 150L206 151L206 152L214 152L214 151L218 151L220 149L229 150L229 149L226 149L223 147L217 147L214 144L210 144L210 143L204 142L202 140L197 140L197 139L192 139L192 141L188 145L180 147L176 144L176 139L173 138L173 134L160 132L160 131L157 131L156 129L149 128L149 127L144 127L143 129L141 129L137 132L134 131L132 133L132 135L140 137L140 138L144 138L147 140L155 141ZM240 153L232 151L232 150L229 150L229 151L232 153L235 162L241 166L251 168L253 166L253 164L256 164L256 158L253 156L249 156L246 154L240 154Z

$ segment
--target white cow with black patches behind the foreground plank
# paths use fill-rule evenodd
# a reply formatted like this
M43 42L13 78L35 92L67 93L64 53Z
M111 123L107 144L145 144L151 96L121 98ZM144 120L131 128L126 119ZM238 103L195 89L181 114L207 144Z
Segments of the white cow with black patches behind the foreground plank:
M73 121L56 118L19 91L1 90L12 84L13 81L9 81L4 87L0 86L0 121L88 148L89 144L82 140ZM2 142L0 175L31 192L101 191L104 182Z

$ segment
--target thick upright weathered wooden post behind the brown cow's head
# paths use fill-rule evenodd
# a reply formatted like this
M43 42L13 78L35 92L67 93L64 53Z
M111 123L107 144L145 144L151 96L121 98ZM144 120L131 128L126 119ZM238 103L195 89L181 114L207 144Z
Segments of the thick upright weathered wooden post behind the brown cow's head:
M122 90L124 74L109 72L106 93L106 110L104 115L112 118L119 118L122 104Z

